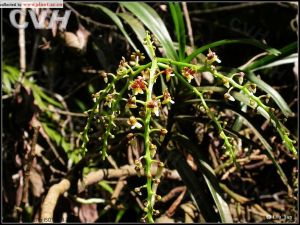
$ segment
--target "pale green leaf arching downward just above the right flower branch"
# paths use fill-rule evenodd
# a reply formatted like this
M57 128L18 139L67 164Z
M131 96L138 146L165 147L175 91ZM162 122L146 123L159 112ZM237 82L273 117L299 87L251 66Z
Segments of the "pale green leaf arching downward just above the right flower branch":
M282 113L286 116L294 116L294 113L286 103L286 101L281 97L281 95L276 91L274 88L272 88L269 84L264 82L263 80L259 79L253 72L248 71L246 74L247 78L252 81L253 83L257 84L257 86L268 93L272 99L276 102L278 107L281 109Z

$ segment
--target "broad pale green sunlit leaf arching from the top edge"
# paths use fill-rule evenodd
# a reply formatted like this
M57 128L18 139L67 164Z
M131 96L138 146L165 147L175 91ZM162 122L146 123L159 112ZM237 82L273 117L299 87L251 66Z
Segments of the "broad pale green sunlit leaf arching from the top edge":
M131 11L157 37L168 58L177 60L178 56L170 34L154 9L143 2L121 2L120 4Z

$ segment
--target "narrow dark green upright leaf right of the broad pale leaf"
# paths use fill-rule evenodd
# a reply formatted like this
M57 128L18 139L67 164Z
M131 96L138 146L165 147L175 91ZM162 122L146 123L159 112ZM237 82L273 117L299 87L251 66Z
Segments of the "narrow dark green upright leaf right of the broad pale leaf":
M175 33L177 36L177 41L179 43L179 60L183 60L185 57L185 25L182 15L182 11L178 2L172 3L169 2L171 15L175 25Z

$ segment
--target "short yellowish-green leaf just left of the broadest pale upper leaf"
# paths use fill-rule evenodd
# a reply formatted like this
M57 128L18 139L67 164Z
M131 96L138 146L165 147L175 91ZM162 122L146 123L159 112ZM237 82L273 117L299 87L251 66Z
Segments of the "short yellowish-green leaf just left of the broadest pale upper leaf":
M130 13L125 12L125 13L118 13L118 15L128 23L128 25L131 27L131 29L134 31L136 34L137 38L139 41L143 44L144 39L146 38L146 30L143 26L143 24L136 18L134 18ZM149 57L151 57L149 49L143 45L147 54Z

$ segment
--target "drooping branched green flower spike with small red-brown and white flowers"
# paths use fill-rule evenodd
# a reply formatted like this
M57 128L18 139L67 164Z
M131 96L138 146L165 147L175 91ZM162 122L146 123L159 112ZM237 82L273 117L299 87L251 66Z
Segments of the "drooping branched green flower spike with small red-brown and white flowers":
M159 213L154 208L154 205L156 201L161 199L161 196L157 194L157 187L160 183L164 163L160 161L157 150L170 131L156 121L160 120L160 114L163 109L169 109L172 104L176 104L168 91L167 85L164 86L161 93L157 93L154 86L159 83L159 78L161 82L167 84L172 83L172 79L177 79L200 99L201 111L206 113L210 120L213 121L219 137L223 140L223 148L230 156L231 162L237 167L239 166L236 161L236 152L239 149L237 140L235 137L228 135L224 129L226 123L220 121L218 114L208 106L204 97L208 91L200 91L196 86L193 86L196 73L209 72L220 80L227 89L224 94L225 101L235 101L236 97L232 94L232 91L234 89L240 91L247 97L250 107L269 117L284 145L292 154L297 156L297 150L294 147L295 141L290 138L287 129L275 116L275 109L267 105L267 100L270 96L256 96L256 84L245 81L245 73L243 71L227 75L219 72L216 63L220 63L221 60L211 49L208 50L205 62L199 65L169 58L160 58L156 56L154 43L150 33L147 32L144 45L150 52L150 62L143 64L145 60L144 54L136 51L132 53L129 62L122 58L116 74L102 74L104 81L108 85L105 89L94 94L95 105L89 112L89 119L82 133L82 149L83 154L85 154L88 151L88 131L91 122L96 114L103 115L102 121L98 121L99 123L102 122L105 127L105 132L100 137L102 145L99 148L99 152L101 152L102 159L105 160L108 155L107 152L109 152L109 140L114 138L114 131L117 127L116 118L121 114L124 115L121 112L125 112L125 115L128 116L127 138L129 145L138 137L141 137L144 143L143 155L135 160L137 174L145 176L147 180L145 185L135 188L138 194L142 194L142 189L146 189L147 192L146 201L144 202L145 214L142 217L142 221L154 222L153 216ZM121 90L116 90L116 83L121 82L121 80L125 80L126 84ZM126 104L121 104L122 101ZM103 108L103 106L106 108ZM156 168L155 175L152 173L152 167Z

